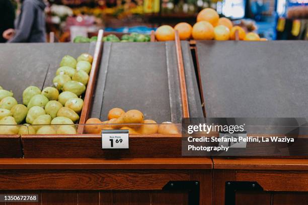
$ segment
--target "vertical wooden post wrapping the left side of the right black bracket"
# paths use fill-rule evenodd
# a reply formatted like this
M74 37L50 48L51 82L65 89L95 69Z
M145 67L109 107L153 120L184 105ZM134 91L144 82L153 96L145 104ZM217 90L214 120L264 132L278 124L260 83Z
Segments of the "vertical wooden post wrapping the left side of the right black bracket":
M224 205L224 189L226 181L235 181L235 170L218 170L213 172L213 203Z

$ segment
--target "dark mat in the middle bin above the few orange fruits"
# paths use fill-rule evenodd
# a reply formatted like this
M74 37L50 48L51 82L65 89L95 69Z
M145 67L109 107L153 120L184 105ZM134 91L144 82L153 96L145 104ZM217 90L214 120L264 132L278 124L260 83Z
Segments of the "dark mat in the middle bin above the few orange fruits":
M112 108L137 109L145 119L180 123L181 95L174 42L105 42L91 118Z

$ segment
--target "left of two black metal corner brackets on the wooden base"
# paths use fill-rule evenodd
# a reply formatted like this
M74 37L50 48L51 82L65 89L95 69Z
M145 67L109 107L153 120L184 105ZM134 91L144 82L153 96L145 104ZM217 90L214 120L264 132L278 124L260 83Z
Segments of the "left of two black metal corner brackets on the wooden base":
M188 205L199 205L200 182L199 181L169 181L163 190L188 191Z

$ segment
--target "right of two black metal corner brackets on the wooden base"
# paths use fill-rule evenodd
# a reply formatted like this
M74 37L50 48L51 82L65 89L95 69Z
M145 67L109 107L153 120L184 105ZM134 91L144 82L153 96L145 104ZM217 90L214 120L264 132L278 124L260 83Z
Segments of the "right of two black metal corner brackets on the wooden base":
M226 181L225 182L225 205L236 204L237 191L263 191L262 186L256 181Z

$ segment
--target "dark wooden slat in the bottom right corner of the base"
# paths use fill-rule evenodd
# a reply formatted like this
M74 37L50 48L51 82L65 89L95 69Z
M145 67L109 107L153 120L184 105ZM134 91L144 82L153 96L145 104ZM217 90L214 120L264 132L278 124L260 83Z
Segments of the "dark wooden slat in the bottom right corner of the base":
M293 193L284 193L284 192L275 192L273 193L273 203L272 205L304 205L308 202L308 193L307 192L293 192Z

